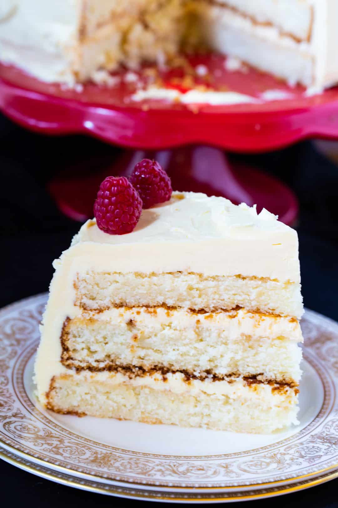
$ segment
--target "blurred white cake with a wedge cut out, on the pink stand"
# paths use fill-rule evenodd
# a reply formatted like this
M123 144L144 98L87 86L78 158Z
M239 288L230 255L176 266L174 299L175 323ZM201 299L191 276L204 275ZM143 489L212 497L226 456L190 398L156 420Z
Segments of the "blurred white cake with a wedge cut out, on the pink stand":
M0 60L73 83L198 45L290 83L338 81L336 0L3 0ZM186 46L187 44L187 46Z

